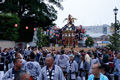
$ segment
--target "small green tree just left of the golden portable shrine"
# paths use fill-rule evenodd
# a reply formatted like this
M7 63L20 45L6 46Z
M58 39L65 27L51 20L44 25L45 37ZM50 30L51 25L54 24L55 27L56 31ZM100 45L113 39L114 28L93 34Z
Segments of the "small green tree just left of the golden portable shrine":
M37 39L34 40L38 47L44 47L48 44L49 37L43 33L42 27L38 28L36 36Z

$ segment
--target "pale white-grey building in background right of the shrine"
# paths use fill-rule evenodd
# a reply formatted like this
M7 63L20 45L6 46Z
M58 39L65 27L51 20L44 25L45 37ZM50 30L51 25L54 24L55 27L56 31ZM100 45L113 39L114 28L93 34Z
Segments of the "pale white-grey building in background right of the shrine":
M86 35L89 35L93 38L95 47L107 45L102 44L102 42L107 41L108 35L112 34L110 32L110 26L106 24L97 26L83 26L83 28L86 30Z

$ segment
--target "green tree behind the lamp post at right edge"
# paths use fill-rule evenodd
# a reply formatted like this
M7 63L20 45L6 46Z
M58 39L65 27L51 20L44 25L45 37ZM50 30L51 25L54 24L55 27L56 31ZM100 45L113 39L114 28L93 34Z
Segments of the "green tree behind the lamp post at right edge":
M111 23L111 26L114 27L115 23ZM120 22L117 20L117 24L116 24L116 49L120 50ZM111 50L114 50L115 47L115 33L113 33L112 35L109 35L109 41L111 42L111 44L107 45Z

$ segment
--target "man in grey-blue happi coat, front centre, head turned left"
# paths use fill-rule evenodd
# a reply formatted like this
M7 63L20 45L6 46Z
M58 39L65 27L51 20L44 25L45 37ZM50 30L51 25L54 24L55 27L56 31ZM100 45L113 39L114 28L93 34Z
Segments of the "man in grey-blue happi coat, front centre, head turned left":
M61 68L53 63L53 57L47 56L46 66L42 68L39 80L65 80Z

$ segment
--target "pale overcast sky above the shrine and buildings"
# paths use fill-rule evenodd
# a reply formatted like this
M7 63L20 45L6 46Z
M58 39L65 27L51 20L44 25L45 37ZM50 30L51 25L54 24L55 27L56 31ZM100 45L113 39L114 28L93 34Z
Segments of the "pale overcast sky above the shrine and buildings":
M75 25L102 25L115 22L113 9L117 7L117 19L120 21L120 0L63 0L64 10L58 10L57 26L63 27L65 18L71 14L77 18Z

